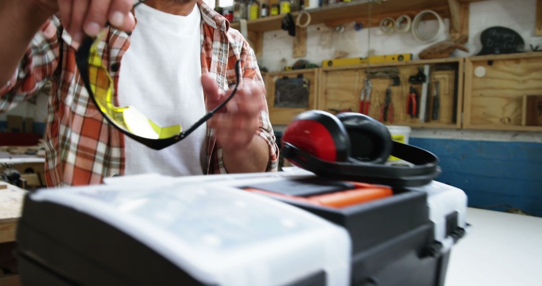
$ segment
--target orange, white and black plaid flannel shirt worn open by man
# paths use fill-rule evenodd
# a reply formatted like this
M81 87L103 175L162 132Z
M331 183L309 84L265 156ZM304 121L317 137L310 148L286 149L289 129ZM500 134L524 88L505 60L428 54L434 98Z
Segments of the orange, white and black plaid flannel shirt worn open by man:
M219 88L227 89L235 83L235 62L241 59L242 78L263 85L254 51L240 32L229 29L229 22L202 0L198 0L197 5L202 14L202 73L209 73ZM101 49L102 61L109 67L117 87L120 61L130 46L130 36L109 29L108 39L100 45L104 47ZM56 17L43 24L11 80L0 86L0 113L30 98L49 79L53 81L53 87L48 100L46 128L47 185L99 184L105 177L124 174L124 135L108 124L89 99L75 66L72 39ZM276 171L279 150L267 107L260 114L260 128L256 134L265 139L269 147L267 171ZM212 137L212 129L208 129L207 141L204 173L227 173L222 148Z

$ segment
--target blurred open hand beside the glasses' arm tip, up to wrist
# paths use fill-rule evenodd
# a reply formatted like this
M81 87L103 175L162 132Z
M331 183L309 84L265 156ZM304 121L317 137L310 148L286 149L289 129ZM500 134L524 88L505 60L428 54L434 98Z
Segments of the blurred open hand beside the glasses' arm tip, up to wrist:
M207 95L207 110L218 106L233 91L218 90L210 75L202 75L203 92ZM264 89L251 80L244 80L237 87L234 97L212 118L207 125L215 129L215 137L227 152L243 151L254 139L260 126L260 112L265 108Z

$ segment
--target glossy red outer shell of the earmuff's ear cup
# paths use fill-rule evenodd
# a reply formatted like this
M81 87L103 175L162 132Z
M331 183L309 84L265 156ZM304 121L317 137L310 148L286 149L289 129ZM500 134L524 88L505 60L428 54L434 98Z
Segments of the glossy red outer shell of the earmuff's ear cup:
M337 147L331 133L314 120L293 121L286 128L282 142L289 142L320 160L337 160Z

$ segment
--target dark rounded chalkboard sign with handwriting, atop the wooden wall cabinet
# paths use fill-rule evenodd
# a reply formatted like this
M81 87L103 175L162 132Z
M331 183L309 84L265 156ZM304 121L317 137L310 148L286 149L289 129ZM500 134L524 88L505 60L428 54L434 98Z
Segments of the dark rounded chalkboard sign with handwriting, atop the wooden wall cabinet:
M478 55L520 53L525 46L518 32L505 27L492 27L480 36L482 50Z

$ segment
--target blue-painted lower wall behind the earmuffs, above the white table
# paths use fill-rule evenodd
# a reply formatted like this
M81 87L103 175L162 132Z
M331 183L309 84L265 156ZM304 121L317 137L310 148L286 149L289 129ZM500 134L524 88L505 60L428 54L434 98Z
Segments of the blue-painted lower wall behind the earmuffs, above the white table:
M542 217L542 144L427 138L409 143L440 158L437 180L466 192L469 206L509 205Z

